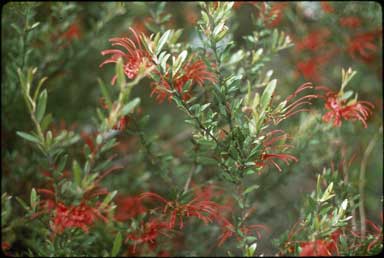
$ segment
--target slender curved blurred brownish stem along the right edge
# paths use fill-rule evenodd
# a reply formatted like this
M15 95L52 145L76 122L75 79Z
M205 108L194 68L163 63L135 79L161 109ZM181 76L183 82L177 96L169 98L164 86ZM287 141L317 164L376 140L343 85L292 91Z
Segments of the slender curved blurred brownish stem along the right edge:
M365 210L364 210L364 198L365 198L364 186L365 186L365 173L366 173L366 169L367 169L367 162L368 162L368 158L369 158L369 156L370 156L370 154L371 154L371 152L373 150L373 147L376 144L376 141L377 141L376 138L378 137L379 133L381 133L382 131L383 131L383 127L380 127L379 132L372 137L371 141L368 144L368 147L365 149L365 152L364 152L364 155L363 155L363 159L361 161L361 166L360 166L360 179L359 179L360 203L359 203L359 212L360 212L360 233L361 233L361 237L362 238L365 237L365 233L366 233L366 225L365 225L366 216L365 216Z

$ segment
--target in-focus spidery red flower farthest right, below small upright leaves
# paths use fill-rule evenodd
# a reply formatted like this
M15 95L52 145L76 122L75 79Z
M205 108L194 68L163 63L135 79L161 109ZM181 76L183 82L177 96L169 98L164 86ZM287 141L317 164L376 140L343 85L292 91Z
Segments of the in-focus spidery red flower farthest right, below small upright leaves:
M325 99L325 108L329 110L323 115L323 121L329 123L333 120L333 126L340 127L342 119L345 120L360 120L364 127L367 128L366 120L372 113L370 108L374 105L368 101L352 100L348 103L346 99L342 99L340 95L327 87L316 87L318 90L325 91L325 96L320 96Z

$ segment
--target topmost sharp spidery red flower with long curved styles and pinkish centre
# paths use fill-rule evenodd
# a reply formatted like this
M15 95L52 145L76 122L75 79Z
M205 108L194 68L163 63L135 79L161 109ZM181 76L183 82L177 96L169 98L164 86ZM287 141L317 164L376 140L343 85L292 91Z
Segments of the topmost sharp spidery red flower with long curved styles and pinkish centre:
M149 54L142 47L140 42L140 37L137 33L130 28L132 34L134 36L134 40L129 38L111 38L109 41L112 43L112 46L121 46L125 48L126 53L119 49L108 49L101 51L101 54L104 55L112 55L110 58L105 60L103 63L99 65L102 67L108 63L117 63L119 58L123 59L124 63L124 73L129 79L133 79L137 76L139 72L139 68L141 65L149 67L151 64L149 63ZM117 75L112 78L112 85L115 84L117 79Z

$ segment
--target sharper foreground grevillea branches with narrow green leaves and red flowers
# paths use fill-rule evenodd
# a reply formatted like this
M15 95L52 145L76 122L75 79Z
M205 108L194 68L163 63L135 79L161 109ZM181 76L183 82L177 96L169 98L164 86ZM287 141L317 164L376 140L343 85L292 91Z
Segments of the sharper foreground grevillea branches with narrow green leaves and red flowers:
M275 170L283 172L291 163L300 161L300 157L290 152L294 146L290 144L292 136L285 131L284 121L310 112L311 105L319 99L325 101L323 122L340 127L343 120L358 120L364 127L368 126L374 106L357 100L357 94L350 99L353 92L345 91L355 74L351 69L342 70L339 92L307 82L285 98L278 95L279 81L273 78L273 70L266 71L265 67L273 55L292 46L285 32L273 28L284 5L256 5L260 14L255 21L258 29L244 37L245 46L236 45L233 40L233 2L203 2L199 6L201 17L196 33L200 46L180 44L181 29L166 30L164 25L169 17L163 15L164 5L153 13L157 24L148 23L152 34L130 28L129 37L109 40L112 48L101 51L107 57L99 66L113 64L115 74L111 86L101 79L98 81L101 108L96 112L96 129L81 137L84 142L81 157L72 156L69 151L70 146L79 142L78 135L65 130L56 134L52 129L52 115L46 112L48 92L43 89L46 77L36 84L37 68L17 70L21 94L34 128L17 134L31 143L43 160L44 187L32 189L29 204L17 198L26 211L23 219L33 225L44 225L36 233L38 240L34 240L39 246L34 250L36 254L86 255L92 246L103 242L97 251L103 250L105 256L170 255L177 245L172 242L183 234L188 224L194 226L197 222L203 227L214 228L212 224L219 227L215 247L225 248L224 243L231 239L240 254L254 256L261 232L268 233L269 229L250 222L254 221L251 215L255 210L250 196L259 185L253 183L257 180L251 185L246 181ZM32 25L31 29L34 26L38 25ZM72 39L79 34L74 27L66 37ZM171 162L153 153L153 142L142 130L146 117L139 118L141 99L132 98L131 94L144 80L150 81L148 95L159 104L165 100L173 103L172 107L183 112L185 122L191 126L191 146L187 151L193 153L193 166L184 187L173 181L176 176ZM111 94L112 90L118 92L117 96ZM115 155L111 153L122 133L139 135L151 163L159 163L159 178L167 186L163 192L143 189L135 196L117 197L115 203L117 191L102 186L105 177L113 177L110 174L122 168L116 165ZM199 181L197 175L204 169L214 171L211 180L228 183L231 190L194 185L192 182ZM327 184L324 191L322 180ZM348 241L352 241L349 235L346 237L347 222L351 219L347 214L354 197L336 198L334 187L342 180L330 181L329 172L319 176L317 182L303 212L305 218L299 228L302 234L297 229L291 232L281 254L359 252L357 249L362 246L352 248L353 251L347 249ZM337 187L343 187L342 183ZM9 220L6 194L2 196L2 204L6 206L5 219ZM98 227L105 235L92 235ZM372 227L380 230L376 225ZM352 231L351 235L371 241L364 242L368 252L380 248L379 233L369 235L374 240ZM299 239L303 236L306 238ZM88 248L79 251L76 240L87 237Z

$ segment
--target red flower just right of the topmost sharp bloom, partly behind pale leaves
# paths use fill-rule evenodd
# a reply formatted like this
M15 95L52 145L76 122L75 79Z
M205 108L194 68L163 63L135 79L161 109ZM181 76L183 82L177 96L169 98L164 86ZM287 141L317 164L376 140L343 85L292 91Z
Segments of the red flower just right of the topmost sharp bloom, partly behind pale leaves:
M216 76L214 73L208 71L206 64L202 60L192 62L191 59L184 65L178 75L175 75L175 80L173 81L173 87L175 90L181 94L184 100L190 98L190 91L194 85L203 86L205 81L215 83ZM184 86L187 81L191 80L191 87L185 92ZM165 98L168 97L168 100L171 101L172 93L171 86L169 85L167 78L162 78L160 83L152 84L153 90L151 95L156 94L156 100L159 103L162 103Z

